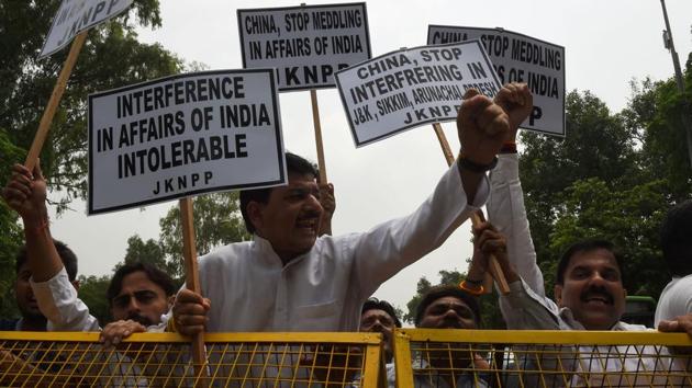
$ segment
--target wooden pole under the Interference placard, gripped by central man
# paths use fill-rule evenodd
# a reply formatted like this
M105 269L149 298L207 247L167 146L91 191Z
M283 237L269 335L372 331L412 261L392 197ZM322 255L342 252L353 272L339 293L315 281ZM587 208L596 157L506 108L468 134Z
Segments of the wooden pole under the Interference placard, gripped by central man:
M192 199L180 199L180 222L182 225L182 255L185 258L185 283L189 290L201 294L200 275L197 270L197 249L194 243L194 224ZM198 378L204 375L207 355L204 354L204 333L192 336L192 361ZM204 384L202 384L204 385Z

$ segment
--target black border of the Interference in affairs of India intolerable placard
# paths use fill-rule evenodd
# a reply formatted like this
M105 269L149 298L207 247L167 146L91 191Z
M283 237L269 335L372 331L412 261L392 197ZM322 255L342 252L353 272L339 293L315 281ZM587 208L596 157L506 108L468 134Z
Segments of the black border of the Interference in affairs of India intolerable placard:
M268 73L269 75L269 81L271 83L271 102L272 102L272 105L274 105L274 119L275 119L275 123L277 123L276 124L276 138L277 138L276 142L277 142L277 161L278 161L278 166L279 166L279 179L278 180L254 182L254 183L247 183L247 184L234 184L234 185L207 187L207 189L193 190L193 191L189 191L189 192L185 192L185 193L178 193L178 194L167 195L167 196L163 196L163 197L141 201L141 202L137 202L137 203L131 203L131 204L126 204L126 205L111 206L111 207L99 208L99 209L94 209L93 208L93 201L92 201L92 198L93 198L93 166L92 166L92 163L93 163L93 160L92 160L93 142L92 142L92 138L91 138L92 123L93 123L93 118L92 118L93 111L92 111L91 106L92 106L92 100L93 99L99 98L99 96L103 96L103 95L110 95L110 94L124 92L124 91L132 90L132 89L147 87L147 85L152 85L152 84L155 84L155 83L167 82L167 81L181 79L181 78L198 77L198 76L201 76L201 75L236 75L236 73L253 73L253 72L266 72L266 73ZM185 75L161 77L161 78L157 78L157 79L152 80L152 81L146 81L146 82L142 82L142 83L131 84L131 85L126 85L126 87L118 88L118 89L112 89L112 90L109 90L109 91L105 91L105 92L97 92L97 93L89 94L89 112L88 112L88 129L89 130L88 130L88 134L87 134L87 136L88 136L88 146L89 146L89 155L88 155L88 159L89 159L89 182L88 182L89 199L88 199L87 214L89 216L91 216L91 215L103 214L103 213L112 213L112 212L118 212L118 210L124 210L124 209L131 209L131 208L135 208L135 207L141 207L141 206L144 206L144 205L158 204L158 203L167 202L167 201L170 201L170 199L183 198L183 197L188 197L188 196L192 196L192 195L197 195L197 194L204 194L204 193L212 193L212 192L223 192L223 191L238 190L238 189L246 189L246 187L271 186L271 185L277 185L277 184L281 183L282 181L284 181L286 175L284 175L284 167L283 167L283 139L281 138L281 119L280 119L280 113L279 113L278 95L279 94L277 92L277 80L275 78L274 69L236 69L236 70L198 71L198 72L190 72L190 73L185 73Z

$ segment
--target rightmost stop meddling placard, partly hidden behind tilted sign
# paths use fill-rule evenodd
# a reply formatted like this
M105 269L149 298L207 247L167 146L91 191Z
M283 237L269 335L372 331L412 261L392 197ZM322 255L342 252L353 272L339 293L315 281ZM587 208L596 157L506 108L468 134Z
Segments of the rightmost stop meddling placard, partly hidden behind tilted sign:
M565 136L565 47L502 28L431 25L427 44L480 39L500 82L526 82L534 110L522 127Z

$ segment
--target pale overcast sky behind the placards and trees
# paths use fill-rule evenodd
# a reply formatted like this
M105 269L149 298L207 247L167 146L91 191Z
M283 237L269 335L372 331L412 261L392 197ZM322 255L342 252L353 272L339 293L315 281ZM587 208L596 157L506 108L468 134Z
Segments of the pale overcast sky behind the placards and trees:
M142 30L139 37L160 43L188 62L202 62L210 69L237 69L242 68L242 59L236 8L299 4L278 0L164 0L163 27ZM692 1L668 0L667 7L684 66L692 47ZM373 56L424 45L428 24L500 26L565 46L567 89L590 90L612 112L627 104L633 78L661 80L673 75L661 38L665 24L658 0L377 0L367 2L367 11ZM326 173L336 187L335 235L362 231L403 216L427 197L446 169L429 125L356 149L336 90L320 90L317 95ZM316 161L310 93L283 93L280 104L286 148ZM444 127L453 149L458 150L456 128L451 123ZM54 237L76 251L81 274L107 274L123 259L130 236L158 237L158 219L174 205L177 202L86 217L86 205L75 202L77 210L54 217L52 230ZM421 276L435 283L440 270L464 271L472 248L469 231L467 222L437 251L387 282L376 296L405 308Z

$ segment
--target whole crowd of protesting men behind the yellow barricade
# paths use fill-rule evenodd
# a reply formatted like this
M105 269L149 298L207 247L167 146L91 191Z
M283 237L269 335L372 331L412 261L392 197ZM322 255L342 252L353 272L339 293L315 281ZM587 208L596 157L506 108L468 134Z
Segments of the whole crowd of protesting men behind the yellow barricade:
M316 182L319 174L311 162L287 153L287 185L241 192L241 210L253 240L227 244L200 258L201 293L185 287L177 290L165 272L150 265L124 265L104 296L113 321L103 328L77 296L75 253L52 237L41 169L29 171L16 164L2 196L24 224L26 241L16 258L15 287L22 317L2 319L0 329L101 331L105 345L146 331L185 335L380 332L388 383L393 386L392 333L401 320L390 304L370 297L403 267L424 260L483 205L492 224L481 221L473 227L475 252L466 281L460 286L434 287L423 295L415 313L416 328L480 328L478 296L483 292L489 258L494 256L510 287L499 300L509 329L654 329L621 321L627 294L622 265L626 258L610 241L572 244L558 262L553 298L548 297L536 264L515 146L518 125L532 107L526 84L506 84L494 100L467 92L457 119L461 144L457 162L411 214L359 233L331 236L333 186ZM660 295L655 329L692 335L692 201L669 212L661 227L661 250L672 279ZM609 352L612 350L604 354ZM640 354L647 352L655 350L644 349ZM489 368L473 352L459 352L453 358L453 364L459 365L451 368ZM573 360L570 368L583 368L579 355ZM650 364L647 370L661 367L656 360L639 356L609 357L594 368L624 370L641 363ZM665 367L671 369L670 365ZM428 362L416 368L439 370L450 365L449 361L444 367ZM647 381L644 384L654 384ZM594 384L579 380L578 374L571 383ZM468 375L450 378L428 373L416 377L415 385L473 387L487 383Z

